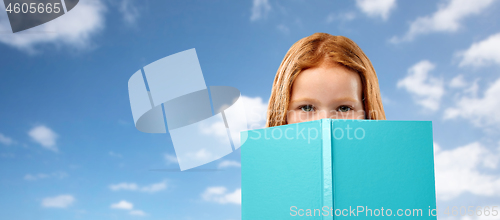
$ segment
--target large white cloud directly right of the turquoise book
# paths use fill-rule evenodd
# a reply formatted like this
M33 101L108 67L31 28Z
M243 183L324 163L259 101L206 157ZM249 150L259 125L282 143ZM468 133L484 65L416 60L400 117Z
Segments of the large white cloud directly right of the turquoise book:
M442 150L437 144L434 148L439 200L451 200L466 192L478 196L500 196L500 176L480 170L497 168L500 149L491 151L478 142L452 150Z

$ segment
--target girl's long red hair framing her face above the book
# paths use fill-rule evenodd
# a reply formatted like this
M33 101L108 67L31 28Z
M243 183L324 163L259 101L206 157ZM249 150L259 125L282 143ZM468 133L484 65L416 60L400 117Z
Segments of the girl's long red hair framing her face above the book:
M266 127L287 124L293 81L302 70L324 61L336 62L357 72L363 84L366 119L386 119L377 74L361 48L347 37L315 33L293 44L281 62L269 99Z

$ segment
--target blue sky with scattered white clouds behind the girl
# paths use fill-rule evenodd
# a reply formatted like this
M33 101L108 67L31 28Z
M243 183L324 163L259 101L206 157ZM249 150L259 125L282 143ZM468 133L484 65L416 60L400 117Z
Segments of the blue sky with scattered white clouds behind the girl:
M500 206L498 12L494 0L81 0L18 34L0 12L0 219L240 219L239 150L201 167L222 171L153 171L179 166L168 135L135 129L127 81L196 48L206 84L262 114L286 51L315 32L364 50L388 119L432 120L439 207Z

